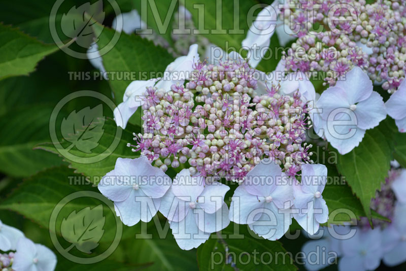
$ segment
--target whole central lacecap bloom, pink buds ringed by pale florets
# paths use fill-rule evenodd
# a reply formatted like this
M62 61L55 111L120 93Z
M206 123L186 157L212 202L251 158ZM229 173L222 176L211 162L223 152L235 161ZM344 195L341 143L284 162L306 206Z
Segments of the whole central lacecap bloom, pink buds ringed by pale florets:
M272 83L257 93L257 71L238 54L214 65L190 52L197 52L194 45L174 62L181 64L168 65L170 74L181 72L180 80L131 83L143 93L127 95L115 116L121 126L121 107L140 100L143 133L134 133L135 143L127 146L141 157L118 158L98 184L100 192L114 201L126 225L148 222L159 211L185 250L230 221L248 224L268 240L281 238L292 217L305 230L317 231L328 219L321 196L327 170L311 164L311 145L304 142L310 109L300 91L286 95ZM169 172L177 173L173 180ZM239 185L231 212L224 182Z

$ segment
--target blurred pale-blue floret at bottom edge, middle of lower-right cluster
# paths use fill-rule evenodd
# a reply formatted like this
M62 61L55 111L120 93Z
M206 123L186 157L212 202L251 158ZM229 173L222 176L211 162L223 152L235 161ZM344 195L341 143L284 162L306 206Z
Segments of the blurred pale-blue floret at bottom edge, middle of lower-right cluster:
M339 271L378 268L383 255L383 238L381 229L358 229L352 238L343 240Z

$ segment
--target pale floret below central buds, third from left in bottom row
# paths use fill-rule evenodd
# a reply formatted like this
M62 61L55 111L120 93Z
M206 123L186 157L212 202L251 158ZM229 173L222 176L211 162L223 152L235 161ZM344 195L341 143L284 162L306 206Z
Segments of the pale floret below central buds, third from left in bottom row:
M292 186L279 165L261 161L235 189L229 218L268 240L278 240L291 224Z

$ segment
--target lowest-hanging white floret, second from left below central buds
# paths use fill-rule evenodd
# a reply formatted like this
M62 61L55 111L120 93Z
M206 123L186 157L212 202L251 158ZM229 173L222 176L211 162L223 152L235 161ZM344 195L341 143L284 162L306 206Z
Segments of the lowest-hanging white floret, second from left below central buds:
M197 248L210 233L228 226L224 196L229 189L216 181L206 184L203 177L191 176L188 169L177 174L162 198L159 212L168 219L181 249Z

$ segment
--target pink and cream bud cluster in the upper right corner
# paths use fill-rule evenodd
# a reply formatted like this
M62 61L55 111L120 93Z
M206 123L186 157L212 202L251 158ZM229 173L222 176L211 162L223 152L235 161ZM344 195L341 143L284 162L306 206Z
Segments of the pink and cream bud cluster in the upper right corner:
M339 3L289 0L281 16L292 29L300 27L296 34L299 40L293 47L315 47L319 51L328 48L328 51L336 52L328 56L317 51L320 55L313 61L306 57L299 60L291 54L290 69L340 75L356 65L362 67L371 80L383 83L382 87L393 93L406 70L405 4L404 0L377 1L374 4L366 4L364 0L342 0ZM352 16L353 21L334 20L333 16ZM320 27L326 31L317 31ZM326 77L328 84L334 84L335 80Z

